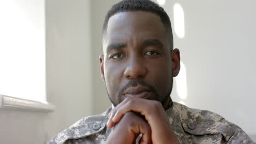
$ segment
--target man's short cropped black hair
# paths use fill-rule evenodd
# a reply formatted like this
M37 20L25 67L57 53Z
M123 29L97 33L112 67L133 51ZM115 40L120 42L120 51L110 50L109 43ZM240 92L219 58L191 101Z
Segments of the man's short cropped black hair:
M111 9L109 9L102 28L102 34L107 32L108 21L111 16L114 14L124 12L124 11L147 11L153 14L156 14L160 17L162 24L165 26L166 30L170 36L171 49L173 48L173 36L172 36L172 27L169 16L166 14L165 10L160 7L158 4L150 0L123 0L117 4L114 4Z

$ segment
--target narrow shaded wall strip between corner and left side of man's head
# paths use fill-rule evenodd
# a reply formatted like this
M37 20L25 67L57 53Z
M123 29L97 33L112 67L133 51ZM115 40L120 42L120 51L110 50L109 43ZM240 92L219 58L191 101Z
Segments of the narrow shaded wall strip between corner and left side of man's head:
M120 0L93 0L91 1L91 29L92 29L92 81L94 105L93 113L105 111L111 104L107 96L106 87L101 80L100 59L102 51L102 25L108 10Z

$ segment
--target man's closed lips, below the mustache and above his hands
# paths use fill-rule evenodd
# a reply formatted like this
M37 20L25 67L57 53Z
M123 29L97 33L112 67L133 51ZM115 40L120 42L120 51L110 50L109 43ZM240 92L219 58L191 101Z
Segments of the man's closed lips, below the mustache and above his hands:
M152 93L149 88L143 86L136 86L127 88L123 93L125 97L136 97L136 98L146 98Z

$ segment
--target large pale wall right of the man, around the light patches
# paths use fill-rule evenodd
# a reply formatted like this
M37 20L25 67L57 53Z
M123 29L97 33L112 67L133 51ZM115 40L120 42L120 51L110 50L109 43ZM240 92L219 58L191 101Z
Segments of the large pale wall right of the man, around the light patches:
M172 23L174 3L184 10L185 36L174 33L174 47L188 92L182 100L175 88L171 97L219 113L256 140L256 1L166 1Z

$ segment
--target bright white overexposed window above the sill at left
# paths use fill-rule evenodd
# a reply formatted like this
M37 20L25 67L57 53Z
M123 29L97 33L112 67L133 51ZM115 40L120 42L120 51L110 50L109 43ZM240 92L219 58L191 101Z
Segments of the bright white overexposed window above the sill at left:
M0 94L46 101L44 0L0 1Z

